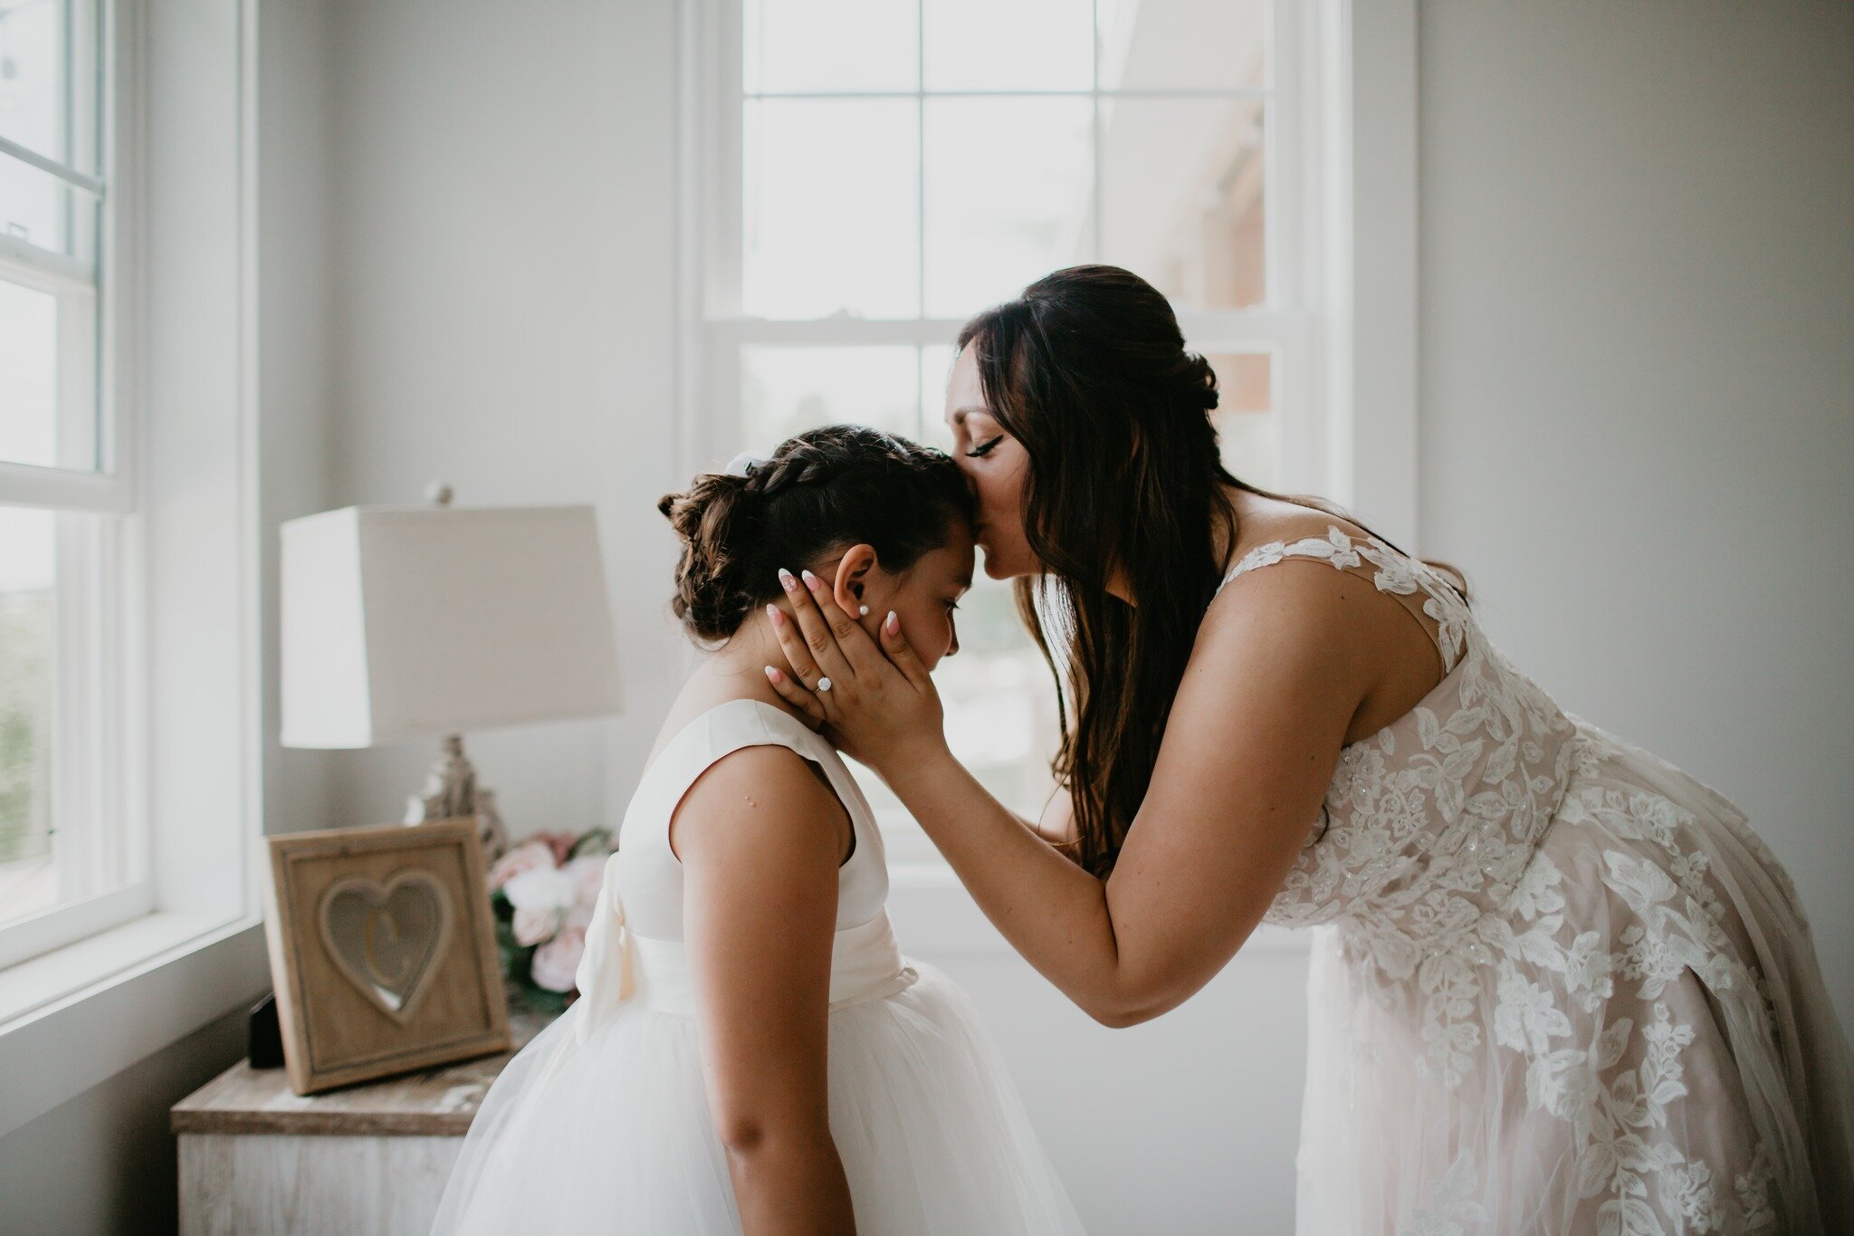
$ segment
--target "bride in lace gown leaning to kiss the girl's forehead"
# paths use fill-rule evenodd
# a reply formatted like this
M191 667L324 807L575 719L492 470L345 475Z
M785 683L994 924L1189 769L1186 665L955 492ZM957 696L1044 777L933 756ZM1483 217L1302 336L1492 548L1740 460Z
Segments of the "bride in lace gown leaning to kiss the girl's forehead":
M947 423L1066 680L1066 793L1038 825L986 795L908 634L831 589L771 634L784 699L1044 977L1133 1025L1263 919L1322 925L1302 1232L1847 1230L1854 1064L1737 806L1565 713L1461 574L1229 476L1216 378L1137 276L1059 271L959 345Z

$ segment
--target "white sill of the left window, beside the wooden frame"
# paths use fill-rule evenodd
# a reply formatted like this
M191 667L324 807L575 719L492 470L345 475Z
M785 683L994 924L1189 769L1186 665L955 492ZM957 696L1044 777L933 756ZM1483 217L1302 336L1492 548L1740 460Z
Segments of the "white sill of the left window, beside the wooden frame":
M269 984L258 915L156 912L0 971L0 1136Z

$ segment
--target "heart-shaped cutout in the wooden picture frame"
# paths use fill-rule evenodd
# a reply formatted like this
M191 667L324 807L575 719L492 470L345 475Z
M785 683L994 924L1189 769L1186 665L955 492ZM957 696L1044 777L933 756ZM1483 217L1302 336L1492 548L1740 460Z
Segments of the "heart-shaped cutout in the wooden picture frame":
M399 1023L412 1019L451 943L451 895L430 871L395 871L382 884L336 880L317 915L323 947L354 988Z

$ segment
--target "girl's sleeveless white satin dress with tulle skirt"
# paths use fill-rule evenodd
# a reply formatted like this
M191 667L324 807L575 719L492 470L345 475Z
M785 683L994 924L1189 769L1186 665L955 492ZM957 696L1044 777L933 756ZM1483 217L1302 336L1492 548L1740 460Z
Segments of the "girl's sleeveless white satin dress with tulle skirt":
M734 700L684 726L645 771L588 928L580 999L484 1097L434 1232L740 1230L703 1088L669 817L708 765L764 745L816 763L855 830L838 875L829 1104L857 1230L1081 1230L971 1004L895 947L883 838L844 762L792 715Z

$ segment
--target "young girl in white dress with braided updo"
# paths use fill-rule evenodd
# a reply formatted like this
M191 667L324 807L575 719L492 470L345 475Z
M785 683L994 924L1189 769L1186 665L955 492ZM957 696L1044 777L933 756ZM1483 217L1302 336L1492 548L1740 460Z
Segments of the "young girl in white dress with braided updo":
M580 999L484 1097L434 1230L1079 1232L966 997L895 947L868 802L766 669L788 567L929 667L959 650L959 469L834 426L660 510L712 650L625 813Z

